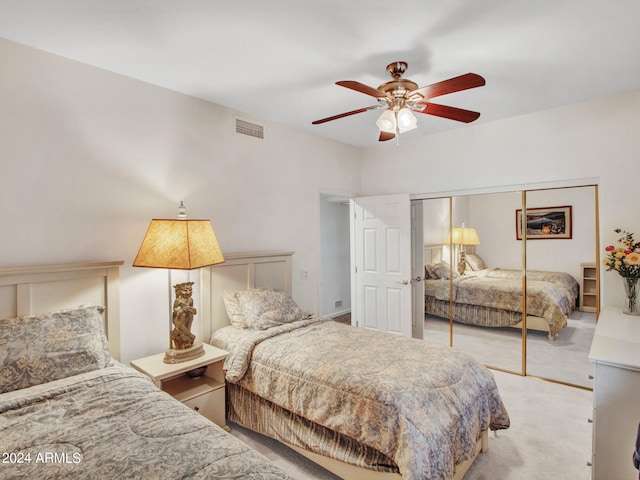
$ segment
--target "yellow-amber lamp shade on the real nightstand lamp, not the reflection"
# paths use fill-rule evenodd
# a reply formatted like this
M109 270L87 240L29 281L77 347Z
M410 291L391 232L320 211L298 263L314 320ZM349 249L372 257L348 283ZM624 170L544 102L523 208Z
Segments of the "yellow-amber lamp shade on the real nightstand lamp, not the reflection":
M194 268L224 262L209 220L151 220L134 267Z

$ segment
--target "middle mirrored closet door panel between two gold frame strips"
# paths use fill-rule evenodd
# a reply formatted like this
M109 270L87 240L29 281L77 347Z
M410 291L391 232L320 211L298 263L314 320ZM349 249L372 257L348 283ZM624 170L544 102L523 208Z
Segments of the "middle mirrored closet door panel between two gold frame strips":
M454 197L453 229L476 232L455 283L453 346L485 365L521 374L522 245L515 240L514 208L521 192ZM455 237L455 235L454 235ZM467 240L463 240L467 241ZM462 270L462 269L461 269Z

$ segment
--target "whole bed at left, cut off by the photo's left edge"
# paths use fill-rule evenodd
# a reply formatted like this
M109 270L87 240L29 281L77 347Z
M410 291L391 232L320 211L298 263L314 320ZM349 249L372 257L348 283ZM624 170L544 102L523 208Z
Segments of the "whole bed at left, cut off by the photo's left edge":
M114 358L121 264L0 269L0 478L289 479Z

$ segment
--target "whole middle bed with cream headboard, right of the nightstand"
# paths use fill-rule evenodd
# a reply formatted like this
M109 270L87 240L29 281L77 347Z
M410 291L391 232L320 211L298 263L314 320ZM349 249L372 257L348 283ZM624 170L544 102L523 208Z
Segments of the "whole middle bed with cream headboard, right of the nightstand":
M489 370L449 347L306 314L291 253L203 269L203 338L229 351L227 416L345 479L460 479L509 416ZM244 322L244 325L243 325Z

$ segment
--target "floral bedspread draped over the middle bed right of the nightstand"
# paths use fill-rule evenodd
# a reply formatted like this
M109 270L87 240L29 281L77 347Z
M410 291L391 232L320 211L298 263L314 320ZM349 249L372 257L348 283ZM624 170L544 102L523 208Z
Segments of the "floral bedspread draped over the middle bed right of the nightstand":
M311 319L225 327L227 380L392 458L404 479L448 479L482 430L509 427L493 375L449 347Z

